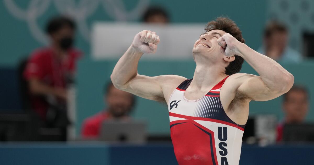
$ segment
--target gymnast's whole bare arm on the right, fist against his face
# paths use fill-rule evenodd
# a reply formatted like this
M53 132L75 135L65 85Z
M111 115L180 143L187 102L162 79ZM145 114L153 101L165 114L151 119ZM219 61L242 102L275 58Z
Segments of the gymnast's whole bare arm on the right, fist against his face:
M293 85L294 77L279 63L260 54L226 33L217 40L221 52L227 57L238 55L244 58L260 76L246 74L239 77L236 93L252 100L266 101L276 98Z

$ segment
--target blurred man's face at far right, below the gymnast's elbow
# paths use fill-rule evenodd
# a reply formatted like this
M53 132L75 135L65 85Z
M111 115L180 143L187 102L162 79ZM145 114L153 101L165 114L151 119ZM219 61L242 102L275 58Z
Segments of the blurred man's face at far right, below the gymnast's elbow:
M307 95L303 91L290 91L283 105L285 118L290 122L303 122L308 112Z

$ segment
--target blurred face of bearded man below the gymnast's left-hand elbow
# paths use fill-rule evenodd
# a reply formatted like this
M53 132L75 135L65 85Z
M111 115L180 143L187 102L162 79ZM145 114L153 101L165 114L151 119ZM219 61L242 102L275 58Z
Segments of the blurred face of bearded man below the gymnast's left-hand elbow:
M132 94L111 86L106 96L108 111L115 118L128 115L132 106Z

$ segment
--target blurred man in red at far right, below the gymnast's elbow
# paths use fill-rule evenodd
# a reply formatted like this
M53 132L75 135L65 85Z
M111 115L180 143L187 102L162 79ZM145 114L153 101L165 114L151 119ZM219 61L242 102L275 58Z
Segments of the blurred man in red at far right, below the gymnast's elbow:
M282 141L284 124L301 124L309 110L309 98L306 88L293 86L284 94L284 119L277 126L277 142Z

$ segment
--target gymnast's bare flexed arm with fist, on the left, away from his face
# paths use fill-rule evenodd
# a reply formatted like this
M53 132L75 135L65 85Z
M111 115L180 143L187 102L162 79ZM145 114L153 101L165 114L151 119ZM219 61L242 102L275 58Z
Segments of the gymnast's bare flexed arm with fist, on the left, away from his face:
M176 75L149 77L138 74L139 59L143 53L155 53L159 41L159 36L149 30L143 30L134 37L132 45L119 59L111 74L111 81L116 88L150 100L162 101L169 95L163 92L165 88L171 87L169 83L177 85L183 81L183 77Z

